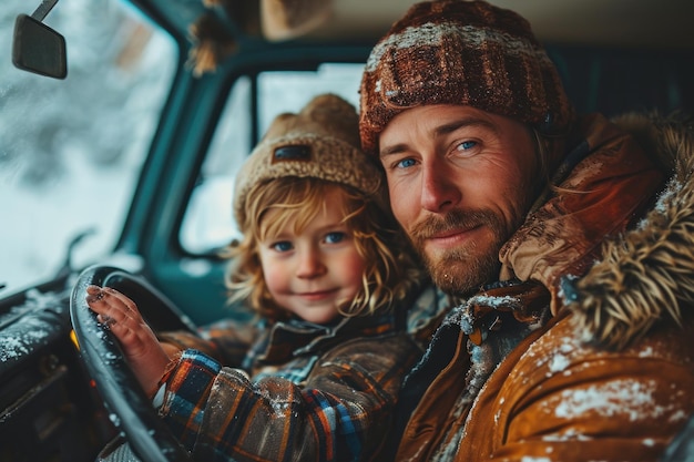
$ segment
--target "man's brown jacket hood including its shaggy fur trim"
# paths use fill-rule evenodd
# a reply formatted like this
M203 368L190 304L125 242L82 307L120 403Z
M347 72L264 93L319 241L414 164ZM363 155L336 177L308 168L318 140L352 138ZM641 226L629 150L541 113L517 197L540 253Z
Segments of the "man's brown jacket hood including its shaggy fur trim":
M621 349L694 315L692 120L599 114L576 125L548 197L500 251L501 280L549 289L585 340Z

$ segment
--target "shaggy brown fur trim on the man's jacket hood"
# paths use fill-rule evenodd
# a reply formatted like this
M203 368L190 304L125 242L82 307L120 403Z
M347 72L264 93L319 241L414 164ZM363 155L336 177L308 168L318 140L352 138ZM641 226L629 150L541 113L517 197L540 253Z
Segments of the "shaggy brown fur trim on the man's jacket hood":
M694 121L627 114L614 122L655 155L667 181L643 219L563 287L588 340L619 349L656 321L694 314Z

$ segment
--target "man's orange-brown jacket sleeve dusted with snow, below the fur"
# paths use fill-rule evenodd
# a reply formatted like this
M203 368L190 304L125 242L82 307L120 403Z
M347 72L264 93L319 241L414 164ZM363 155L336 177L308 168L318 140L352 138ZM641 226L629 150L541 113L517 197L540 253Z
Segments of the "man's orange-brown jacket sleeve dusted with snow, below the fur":
M694 412L694 322L685 327L616 352L558 322L487 382L455 460L657 460Z

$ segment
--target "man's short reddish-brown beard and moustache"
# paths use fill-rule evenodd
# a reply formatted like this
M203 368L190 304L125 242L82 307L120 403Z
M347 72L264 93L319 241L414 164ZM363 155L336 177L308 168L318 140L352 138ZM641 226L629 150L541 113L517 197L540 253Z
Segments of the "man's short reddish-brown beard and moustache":
M492 232L493 242L484 243L487 249L476 251L478 243L470 242L465 247L451 248L436 255L426 254L425 245L428 237L449 229L469 229L476 226L484 226ZM501 266L499 249L509 235L510 230L507 230L503 223L490 211L455 209L445 216L431 215L415 225L410 232L410 239L433 284L447 294L467 296L486 283L497 279Z

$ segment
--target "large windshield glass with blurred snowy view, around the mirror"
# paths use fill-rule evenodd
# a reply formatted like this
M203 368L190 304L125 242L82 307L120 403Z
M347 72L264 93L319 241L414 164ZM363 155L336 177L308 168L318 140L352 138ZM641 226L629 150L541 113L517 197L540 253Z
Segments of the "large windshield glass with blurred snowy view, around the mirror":
M68 76L12 65L18 14L0 10L0 287L53 276L113 248L171 83L174 43L116 0L63 0L44 23L64 35Z

